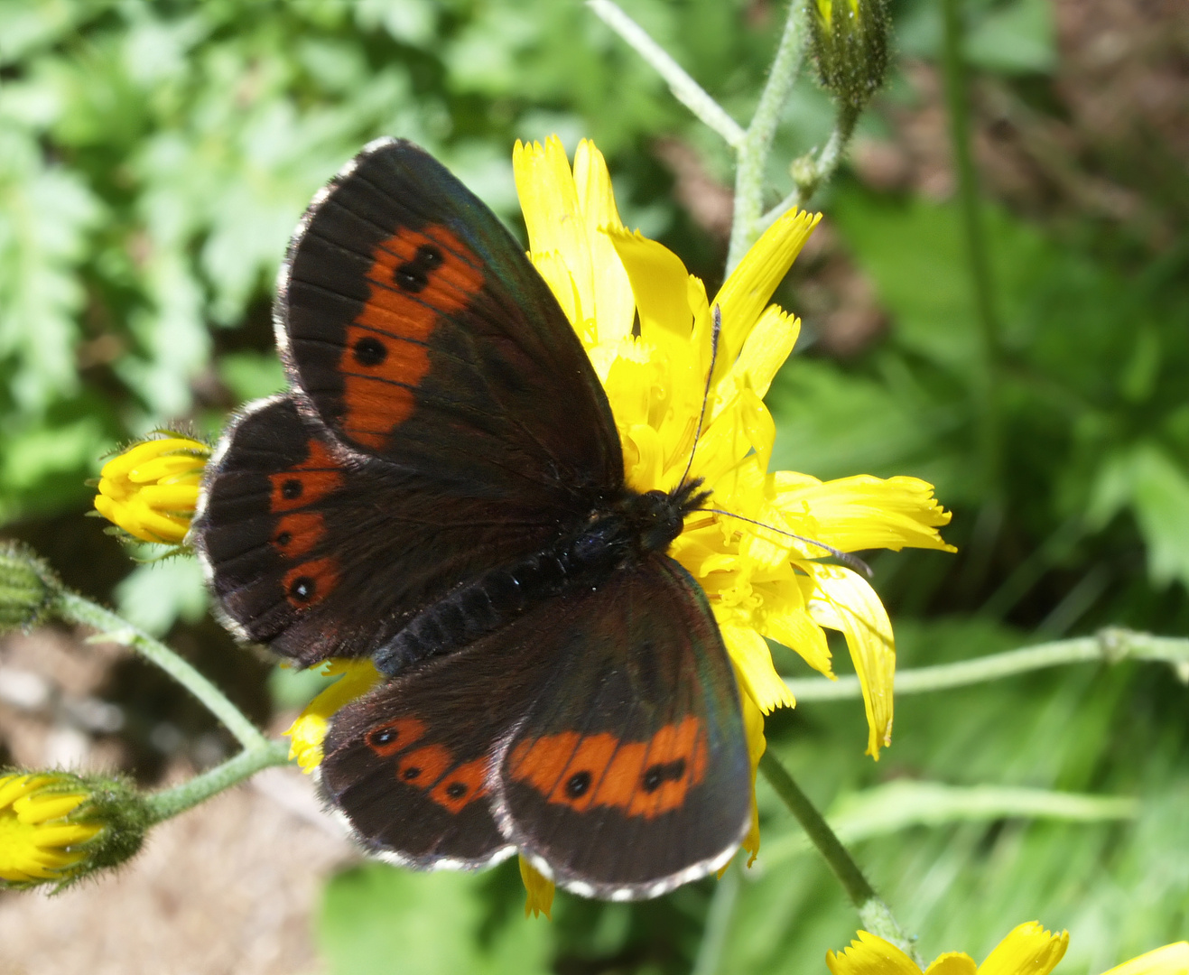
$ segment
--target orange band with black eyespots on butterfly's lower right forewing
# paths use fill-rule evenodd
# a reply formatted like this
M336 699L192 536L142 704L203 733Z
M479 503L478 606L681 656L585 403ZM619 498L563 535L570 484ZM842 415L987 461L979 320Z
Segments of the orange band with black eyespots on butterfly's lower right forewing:
M691 716L663 725L647 742L575 731L523 741L512 749L509 774L547 801L578 812L612 806L652 819L681 807L705 779L706 761L705 731Z

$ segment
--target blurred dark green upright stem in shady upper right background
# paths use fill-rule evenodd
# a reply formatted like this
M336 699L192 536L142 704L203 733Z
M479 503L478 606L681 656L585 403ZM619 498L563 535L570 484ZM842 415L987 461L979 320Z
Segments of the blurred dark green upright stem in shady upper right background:
M954 165L957 171L958 203L965 235L967 259L974 289L975 315L982 339L983 369L980 389L980 440L983 477L992 495L1000 488L999 371L1000 327L995 313L994 285L986 233L979 207L979 184L970 151L970 102L962 56L961 0L942 0L944 20L943 59L945 101L950 114Z

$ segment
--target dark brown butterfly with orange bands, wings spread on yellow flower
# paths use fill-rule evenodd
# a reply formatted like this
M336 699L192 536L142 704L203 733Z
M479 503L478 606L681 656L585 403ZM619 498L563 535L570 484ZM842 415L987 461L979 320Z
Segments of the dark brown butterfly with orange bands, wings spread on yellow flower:
M237 635L383 674L320 766L361 844L423 869L518 850L614 900L725 864L750 823L740 692L666 554L709 492L625 484L598 377L498 218L371 143L298 224L273 322L290 386L228 426L191 539Z

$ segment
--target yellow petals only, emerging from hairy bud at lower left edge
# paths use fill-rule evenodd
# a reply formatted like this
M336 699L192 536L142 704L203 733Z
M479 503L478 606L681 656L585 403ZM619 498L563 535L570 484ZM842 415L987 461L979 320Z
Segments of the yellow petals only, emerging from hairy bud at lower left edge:
M102 825L71 817L89 798L62 773L0 775L0 880L26 886L69 880Z

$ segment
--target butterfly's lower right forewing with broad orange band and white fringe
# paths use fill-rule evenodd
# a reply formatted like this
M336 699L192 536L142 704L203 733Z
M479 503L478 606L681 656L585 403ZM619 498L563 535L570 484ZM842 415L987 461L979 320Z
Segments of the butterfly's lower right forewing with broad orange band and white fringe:
M574 600L499 770L505 835L575 892L655 897L750 822L738 692L705 596L666 555Z

